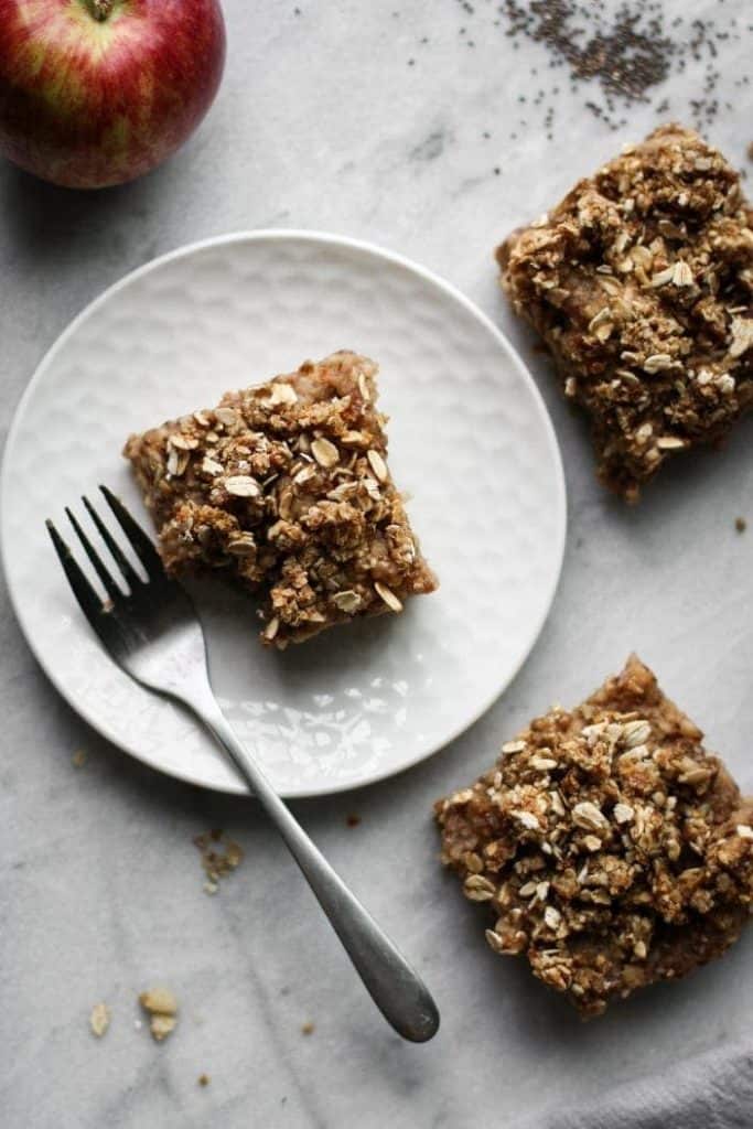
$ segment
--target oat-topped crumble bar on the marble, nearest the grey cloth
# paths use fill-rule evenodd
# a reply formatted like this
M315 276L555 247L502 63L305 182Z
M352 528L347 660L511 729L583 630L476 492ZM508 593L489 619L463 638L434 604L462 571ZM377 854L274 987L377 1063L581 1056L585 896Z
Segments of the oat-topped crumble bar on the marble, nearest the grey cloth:
M632 656L436 805L491 948L525 954L586 1016L719 956L748 918L753 800L701 739Z

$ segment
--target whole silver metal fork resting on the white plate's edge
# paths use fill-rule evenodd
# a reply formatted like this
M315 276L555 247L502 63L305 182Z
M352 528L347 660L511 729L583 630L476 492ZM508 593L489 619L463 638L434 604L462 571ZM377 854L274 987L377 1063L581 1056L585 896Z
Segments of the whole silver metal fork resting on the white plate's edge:
M191 599L167 577L151 540L120 499L106 487L99 489L148 579L141 579L91 502L84 498L87 513L128 589L113 579L67 508L81 548L107 593L103 603L49 520L50 536L81 611L105 650L126 674L142 686L183 702L217 738L289 847L374 1003L404 1039L426 1042L439 1026L439 1013L429 990L335 874L234 734L209 683L204 637Z

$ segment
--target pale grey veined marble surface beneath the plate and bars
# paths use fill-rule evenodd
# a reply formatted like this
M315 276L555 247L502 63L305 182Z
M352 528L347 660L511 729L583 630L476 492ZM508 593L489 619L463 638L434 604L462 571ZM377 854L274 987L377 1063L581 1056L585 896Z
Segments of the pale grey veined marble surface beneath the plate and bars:
M221 231L330 229L426 263L507 330L551 410L570 519L553 612L489 714L409 773L295 805L434 989L443 1027L423 1047L386 1029L254 804L159 777L88 730L35 666L2 596L7 1129L543 1127L568 1111L577 1123L577 1111L612 1086L659 1076L720 1043L750 1045L753 934L693 980L581 1025L518 963L493 956L478 907L437 865L432 799L484 768L533 712L578 700L631 649L753 789L753 528L734 527L738 515L753 523L753 420L724 453L667 470L639 509L624 509L595 484L585 427L510 318L491 261L510 227L544 210L623 135L658 122L662 96L686 119L703 68L689 65L650 104L628 108L619 135L585 108L586 89L572 94L563 82L548 140L541 107L518 102L535 93L531 69L546 68L543 47L515 50L493 24L493 5L467 7L301 0L296 15L292 2L227 0L221 95L164 168L75 195L0 167L3 432L43 351L125 271ZM725 9L744 23L743 0ZM750 38L724 50L723 99L708 132L743 166L751 95L734 77ZM86 752L81 768L71 762L77 750ZM361 819L356 828L351 814ZM246 858L210 898L192 839L214 826L230 830ZM137 994L154 982L172 986L182 1004L180 1027L161 1047L134 1025ZM87 1025L98 1000L113 1012L102 1042ZM315 1030L304 1035L308 1021Z

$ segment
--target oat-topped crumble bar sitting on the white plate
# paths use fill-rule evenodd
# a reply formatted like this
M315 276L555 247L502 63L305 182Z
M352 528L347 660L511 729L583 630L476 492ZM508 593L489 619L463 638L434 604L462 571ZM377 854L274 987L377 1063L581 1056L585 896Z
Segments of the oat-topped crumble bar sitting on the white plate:
M257 593L279 648L437 586L387 467L376 375L338 352L125 445L167 570Z

